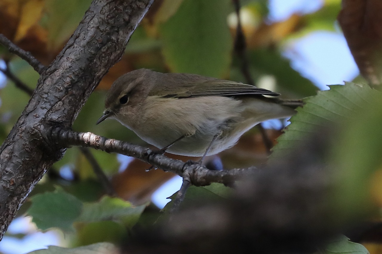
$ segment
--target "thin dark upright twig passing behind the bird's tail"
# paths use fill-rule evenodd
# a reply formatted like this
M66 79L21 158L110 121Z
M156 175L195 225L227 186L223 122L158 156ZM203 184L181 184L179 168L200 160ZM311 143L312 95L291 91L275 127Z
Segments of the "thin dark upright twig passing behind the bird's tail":
M232 1L233 1L233 5L235 6L236 16L238 19L238 24L236 27L235 52L236 52L236 55L238 55L238 57L241 59L241 72L243 73L247 84L254 85L255 82L251 76L251 72L249 71L249 62L246 55L247 45L245 42L245 35L243 33L243 27L241 26L241 20L240 20L240 0L232 0ZM268 137L261 123L258 124L257 127L260 130L261 137L264 142L264 146L267 149L267 153L270 154L270 149L273 146L273 142Z

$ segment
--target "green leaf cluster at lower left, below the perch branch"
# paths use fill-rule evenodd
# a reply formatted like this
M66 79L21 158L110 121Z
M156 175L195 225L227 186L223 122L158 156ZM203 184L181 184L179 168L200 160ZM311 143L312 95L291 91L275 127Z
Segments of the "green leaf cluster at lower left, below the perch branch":
M58 188L34 195L27 214L32 216L32 222L40 230L59 228L74 233L76 245L102 241L119 243L145 207L109 196L95 202L83 202Z

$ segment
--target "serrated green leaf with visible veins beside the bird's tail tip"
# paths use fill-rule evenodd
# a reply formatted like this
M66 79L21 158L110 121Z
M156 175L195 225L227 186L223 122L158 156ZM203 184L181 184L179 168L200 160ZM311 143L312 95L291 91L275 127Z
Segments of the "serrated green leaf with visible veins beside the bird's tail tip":
M291 124L285 133L278 138L273 148L270 161L285 158L309 135L329 124L342 123L354 116L360 109L367 109L368 101L380 93L369 86L354 83L346 85L331 85L330 90L319 91L316 96L306 98L303 108L297 109L297 114L291 117ZM354 121L356 121L354 119Z

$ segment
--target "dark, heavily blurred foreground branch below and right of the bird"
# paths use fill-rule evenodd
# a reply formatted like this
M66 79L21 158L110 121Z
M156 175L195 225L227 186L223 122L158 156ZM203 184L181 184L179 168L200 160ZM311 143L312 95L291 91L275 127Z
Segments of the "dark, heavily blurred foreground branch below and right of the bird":
M340 179L324 162L326 142L316 135L246 177L231 198L181 207L129 239L122 253L316 253L355 223L331 195Z

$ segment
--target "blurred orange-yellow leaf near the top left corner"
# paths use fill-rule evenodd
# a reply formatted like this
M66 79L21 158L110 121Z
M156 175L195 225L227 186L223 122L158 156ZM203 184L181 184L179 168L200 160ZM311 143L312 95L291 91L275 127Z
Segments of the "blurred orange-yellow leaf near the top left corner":
M28 30L39 22L44 6L44 0L29 0L21 6L20 21L14 38L15 42L23 39Z

